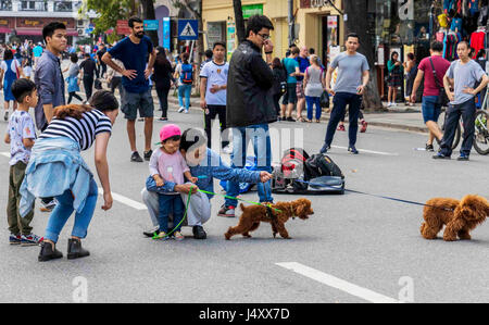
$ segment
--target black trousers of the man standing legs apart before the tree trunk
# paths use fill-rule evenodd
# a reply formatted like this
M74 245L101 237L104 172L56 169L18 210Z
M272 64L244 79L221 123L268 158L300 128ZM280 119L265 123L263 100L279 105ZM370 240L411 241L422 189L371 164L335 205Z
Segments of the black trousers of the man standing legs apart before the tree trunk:
M347 105L349 105L349 127L348 137L350 139L349 147L354 147L356 143L356 132L359 130L359 114L360 105L362 104L362 96L350 92L337 92L333 99L333 111L329 117L328 127L326 130L325 142L330 146L333 137L335 136L336 127L341 117L344 116Z

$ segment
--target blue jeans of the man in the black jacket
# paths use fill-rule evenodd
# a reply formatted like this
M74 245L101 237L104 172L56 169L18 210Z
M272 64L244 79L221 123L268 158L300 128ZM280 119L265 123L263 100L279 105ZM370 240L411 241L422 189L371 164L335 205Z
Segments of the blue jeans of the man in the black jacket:
M247 132L248 130L248 132ZM247 135L248 133L248 135ZM251 125L248 127L233 128L233 153L231 167L242 168L246 164L248 143L253 141L253 150L256 155L256 171L265 171L272 173L272 146L269 142L268 124ZM259 183L258 192L260 202L273 202L272 188L269 182ZM239 195L239 183L227 183L227 195L237 197ZM225 205L237 207L238 201L227 199Z

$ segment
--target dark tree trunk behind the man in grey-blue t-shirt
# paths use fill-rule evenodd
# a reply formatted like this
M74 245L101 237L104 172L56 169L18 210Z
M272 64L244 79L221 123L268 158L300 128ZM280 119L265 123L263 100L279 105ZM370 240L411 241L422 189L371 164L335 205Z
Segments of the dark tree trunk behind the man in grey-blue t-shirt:
M359 52L364 54L371 67L371 79L363 96L366 110L384 110L377 87L377 67L375 66L375 48L368 32L367 1L343 0L344 14L348 18L346 29L348 33L356 33L360 37Z

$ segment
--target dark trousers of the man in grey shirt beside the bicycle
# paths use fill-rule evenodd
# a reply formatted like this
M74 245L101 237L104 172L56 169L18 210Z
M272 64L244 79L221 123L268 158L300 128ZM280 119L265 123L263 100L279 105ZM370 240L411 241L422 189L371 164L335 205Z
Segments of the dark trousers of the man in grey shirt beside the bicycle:
M472 145L474 143L475 113L476 107L474 98L457 105L449 104L447 109L448 117L444 125L444 134L440 145L441 154L447 157L452 154L453 139L461 116L464 123L464 135L460 153L464 153L465 155L471 154Z

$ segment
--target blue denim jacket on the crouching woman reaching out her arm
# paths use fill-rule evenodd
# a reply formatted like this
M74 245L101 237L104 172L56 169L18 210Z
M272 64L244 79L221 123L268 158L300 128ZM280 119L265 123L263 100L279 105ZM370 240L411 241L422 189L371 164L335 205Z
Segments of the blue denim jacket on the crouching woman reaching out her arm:
M199 178L197 186L199 189L214 192L214 177L217 179L231 180L237 183L260 183L260 172L247 171L244 168L231 168L223 162L221 157L211 149L208 148L206 159L204 159L197 166L189 166L190 174L193 177L206 176L205 178ZM166 182L163 186L156 187L156 183L153 177L148 177L146 182L146 188L149 191L155 192L174 192L175 183ZM212 199L213 195L208 195L209 199Z

